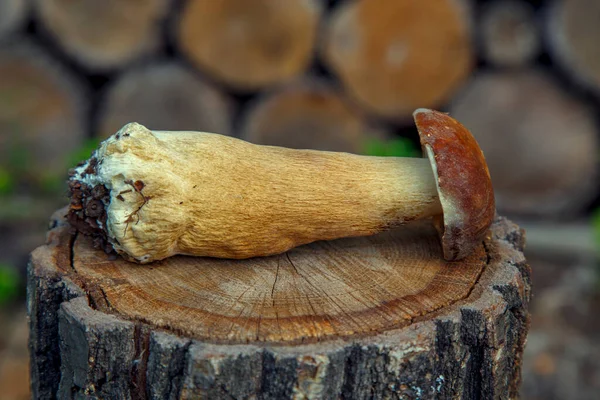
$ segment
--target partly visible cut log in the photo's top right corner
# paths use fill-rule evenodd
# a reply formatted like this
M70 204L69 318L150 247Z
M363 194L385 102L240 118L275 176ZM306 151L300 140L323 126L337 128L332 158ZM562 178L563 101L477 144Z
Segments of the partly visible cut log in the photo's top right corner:
M552 56L575 81L600 92L600 2L554 1L547 15Z

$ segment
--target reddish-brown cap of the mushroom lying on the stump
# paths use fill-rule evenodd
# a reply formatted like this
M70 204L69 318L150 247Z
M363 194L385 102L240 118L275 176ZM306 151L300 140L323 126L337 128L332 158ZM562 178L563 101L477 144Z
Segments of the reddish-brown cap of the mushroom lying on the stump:
M443 217L434 221L444 258L459 260L479 245L496 205L483 152L471 132L439 111L419 108L413 118L431 162Z

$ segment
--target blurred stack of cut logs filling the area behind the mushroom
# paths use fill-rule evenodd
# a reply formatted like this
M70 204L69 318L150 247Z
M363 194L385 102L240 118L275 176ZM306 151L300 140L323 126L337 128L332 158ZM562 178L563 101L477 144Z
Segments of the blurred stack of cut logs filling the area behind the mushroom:
M581 215L597 196L599 15L595 0L4 0L0 165L26 150L19 179L35 183L130 121L418 148L411 113L429 107L480 141L501 212Z

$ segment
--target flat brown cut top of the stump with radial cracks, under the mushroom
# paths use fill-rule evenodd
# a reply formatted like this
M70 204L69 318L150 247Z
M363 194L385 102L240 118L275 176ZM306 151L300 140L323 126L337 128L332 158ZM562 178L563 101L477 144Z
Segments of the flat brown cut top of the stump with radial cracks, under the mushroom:
M460 265L443 261L428 224L249 260L173 257L140 267L108 260L82 236L74 254L78 276L105 294L113 312L229 343L311 341L401 326L464 298L486 260L480 246Z

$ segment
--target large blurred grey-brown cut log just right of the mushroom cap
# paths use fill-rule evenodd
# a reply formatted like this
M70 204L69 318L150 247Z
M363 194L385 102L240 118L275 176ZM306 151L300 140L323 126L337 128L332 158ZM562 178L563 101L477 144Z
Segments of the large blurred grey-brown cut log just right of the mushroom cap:
M450 113L484 151L501 212L561 217L592 200L599 161L594 114L544 72L481 73Z

